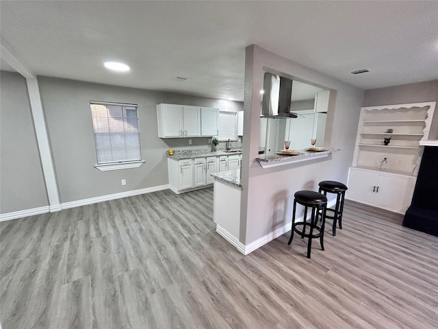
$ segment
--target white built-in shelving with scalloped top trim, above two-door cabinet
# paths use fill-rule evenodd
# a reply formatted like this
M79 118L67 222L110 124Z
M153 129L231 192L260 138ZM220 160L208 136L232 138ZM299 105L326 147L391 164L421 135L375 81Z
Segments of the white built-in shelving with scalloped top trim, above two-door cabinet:
M422 155L420 141L428 139L434 110L435 102L362 108L353 167L415 175ZM384 138L391 138L388 145Z

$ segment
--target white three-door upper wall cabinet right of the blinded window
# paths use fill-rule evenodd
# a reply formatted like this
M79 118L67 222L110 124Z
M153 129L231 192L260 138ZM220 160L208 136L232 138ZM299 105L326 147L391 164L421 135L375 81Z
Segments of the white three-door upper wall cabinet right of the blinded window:
M183 138L218 135L218 108L157 105L158 136Z

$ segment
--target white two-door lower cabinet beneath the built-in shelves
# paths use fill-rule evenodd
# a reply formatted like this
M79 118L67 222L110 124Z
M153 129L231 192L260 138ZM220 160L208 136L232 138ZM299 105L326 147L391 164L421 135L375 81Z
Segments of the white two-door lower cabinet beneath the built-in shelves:
M404 214L411 204L415 180L409 175L350 168L346 198Z

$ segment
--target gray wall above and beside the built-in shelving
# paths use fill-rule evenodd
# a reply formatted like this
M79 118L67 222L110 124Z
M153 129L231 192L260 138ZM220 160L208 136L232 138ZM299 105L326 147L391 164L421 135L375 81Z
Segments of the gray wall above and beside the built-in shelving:
M363 106L378 106L404 103L438 102L438 80L402 84L365 90ZM429 139L438 139L438 108L435 108Z

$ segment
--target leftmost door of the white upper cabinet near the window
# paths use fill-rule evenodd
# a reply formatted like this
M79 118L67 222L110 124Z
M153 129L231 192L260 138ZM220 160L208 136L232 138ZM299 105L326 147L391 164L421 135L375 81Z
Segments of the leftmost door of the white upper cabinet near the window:
M182 107L173 104L161 104L157 108L159 137L182 137Z

